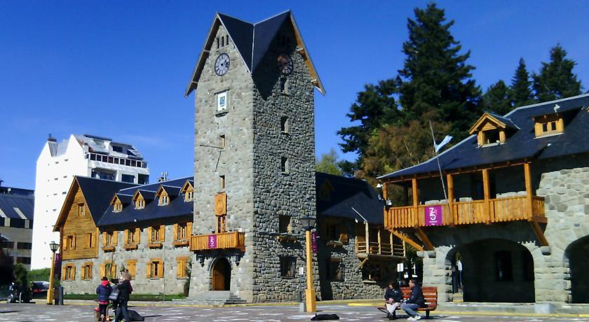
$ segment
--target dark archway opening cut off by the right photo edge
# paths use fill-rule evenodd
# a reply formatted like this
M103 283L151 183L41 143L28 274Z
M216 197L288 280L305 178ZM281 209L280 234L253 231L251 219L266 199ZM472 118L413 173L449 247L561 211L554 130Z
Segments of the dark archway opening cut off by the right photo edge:
M571 269L571 302L589 303L589 236L574 241L566 251Z

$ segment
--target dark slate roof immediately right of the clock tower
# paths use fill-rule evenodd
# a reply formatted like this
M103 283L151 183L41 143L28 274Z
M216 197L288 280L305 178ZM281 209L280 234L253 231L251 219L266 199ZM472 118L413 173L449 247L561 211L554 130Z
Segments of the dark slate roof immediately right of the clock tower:
M316 172L317 216L358 219L383 223L384 202L366 181ZM353 211L353 209L356 211Z

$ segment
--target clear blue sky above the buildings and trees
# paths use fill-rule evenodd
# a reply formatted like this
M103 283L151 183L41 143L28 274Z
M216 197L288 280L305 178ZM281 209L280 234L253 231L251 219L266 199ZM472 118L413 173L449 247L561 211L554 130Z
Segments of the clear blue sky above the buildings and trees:
M316 153L365 83L402 67L407 18L427 1L0 1L0 179L34 188L48 134L134 144L160 172L189 176L194 94L184 89L216 11L257 22L292 9L327 90L316 92ZM486 89L517 61L538 71L560 42L589 87L586 1L439 1ZM340 153L341 155L341 153ZM353 158L353 155L344 156Z

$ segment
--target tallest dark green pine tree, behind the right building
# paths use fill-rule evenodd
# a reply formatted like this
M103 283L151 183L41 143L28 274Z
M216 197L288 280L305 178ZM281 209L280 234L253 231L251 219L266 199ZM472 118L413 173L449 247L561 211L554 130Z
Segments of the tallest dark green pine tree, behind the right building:
M466 62L470 51L459 54L462 46L449 31L454 21L446 22L435 3L414 13L415 20L407 20L409 40L402 49L407 57L398 78L402 110L407 120L433 110L460 139L480 116L480 88L471 74L475 67Z

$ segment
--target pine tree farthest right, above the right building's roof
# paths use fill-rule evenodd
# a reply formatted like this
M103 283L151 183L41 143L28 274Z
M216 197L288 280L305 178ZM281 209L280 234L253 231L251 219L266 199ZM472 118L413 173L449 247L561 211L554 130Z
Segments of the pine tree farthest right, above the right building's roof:
M581 80L573 73L576 62L567 59L567 51L560 44L550 49L550 62L542 63L534 78L534 94L538 102L547 102L581 94Z

